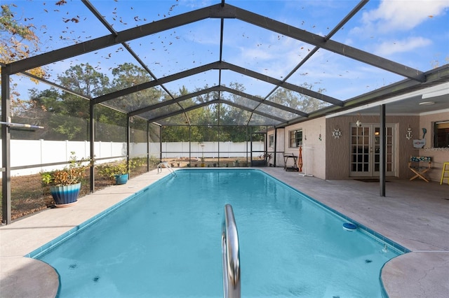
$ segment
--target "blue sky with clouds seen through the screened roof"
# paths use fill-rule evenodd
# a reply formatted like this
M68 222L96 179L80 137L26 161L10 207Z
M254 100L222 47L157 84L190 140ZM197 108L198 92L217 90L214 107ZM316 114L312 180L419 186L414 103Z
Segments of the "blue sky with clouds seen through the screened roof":
M40 52L110 34L81 1L67 0L62 5L56 5L56 1L2 2L15 6L13 11L20 22L34 25L41 41ZM116 31L121 31L220 1L91 0L91 3ZM326 36L358 1L227 0L225 3ZM331 39L413 69L429 71L449 63L449 0L369 1ZM201 20L128 44L154 76L169 76L220 59L220 20ZM314 45L234 19L225 19L224 44L222 59L225 62L279 80L286 78L314 48ZM119 64L137 64L123 46L116 45L46 66L48 80L58 83L58 74L70 66L86 62L109 78L112 78L111 70ZM315 91L320 90L344 101L403 79L394 73L320 49L287 82L295 85L307 83ZM18 83L21 97L26 97L29 88L48 88L42 83L35 85L27 78L13 76L13 80ZM217 85L217 80L217 71L208 71L165 86L176 94L183 85L193 92L206 85ZM232 71L222 71L221 82L227 86L241 83L247 93L260 97L266 97L274 88L272 84Z

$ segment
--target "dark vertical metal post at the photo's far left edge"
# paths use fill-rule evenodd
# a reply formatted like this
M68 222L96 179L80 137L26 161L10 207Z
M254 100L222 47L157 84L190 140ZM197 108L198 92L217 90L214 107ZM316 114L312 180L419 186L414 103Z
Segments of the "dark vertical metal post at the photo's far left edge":
M11 99L9 75L1 66L1 121L11 122ZM2 223L11 224L11 131L8 125L1 125L1 215Z

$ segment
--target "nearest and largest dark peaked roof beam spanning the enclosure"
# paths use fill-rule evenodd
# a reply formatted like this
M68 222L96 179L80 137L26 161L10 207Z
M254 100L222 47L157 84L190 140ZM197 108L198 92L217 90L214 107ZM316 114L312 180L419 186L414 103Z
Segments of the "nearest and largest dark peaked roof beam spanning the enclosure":
M181 15L168 17L164 20L159 20L135 28L126 29L114 34L102 36L100 38L95 38L91 41L78 43L76 45L70 45L66 48L53 50L52 52L36 55L27 59L19 60L17 62L12 62L11 64L7 65L8 73L13 74L19 73L21 71L27 71L28 69L33 69L38 66L51 64L63 59L82 55L87 52L93 52L95 50L107 48L111 45L125 43L126 41L132 41L136 38L152 35L161 31L180 27L192 22L198 22L207 18L236 18L242 20L243 22L255 24L256 26L262 27L264 29L269 29L279 34L304 41L319 48L330 50L331 52L335 52L339 55L356 59L360 62L373 65L380 69L396 73L406 78L418 80L420 82L424 82L426 80L424 73L422 73L422 71L418 71L417 69L398 64L397 62L384 59L382 57L370 54L369 52L364 52L362 50L349 47L344 43L326 40L326 38L323 36L312 34L308 31L290 26L289 24L272 20L262 15L257 15L256 13L251 13L248 10L243 10L229 4L226 6L222 6L220 3L213 6L208 6L206 8L200 8L189 13L183 13Z

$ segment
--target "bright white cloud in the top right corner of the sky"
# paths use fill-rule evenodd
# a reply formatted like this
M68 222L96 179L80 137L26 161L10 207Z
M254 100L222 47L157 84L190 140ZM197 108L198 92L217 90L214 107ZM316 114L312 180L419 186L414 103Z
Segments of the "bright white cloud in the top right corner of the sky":
M449 2L445 0L382 0L377 9L363 13L363 29L406 31L425 20L445 14L448 8Z

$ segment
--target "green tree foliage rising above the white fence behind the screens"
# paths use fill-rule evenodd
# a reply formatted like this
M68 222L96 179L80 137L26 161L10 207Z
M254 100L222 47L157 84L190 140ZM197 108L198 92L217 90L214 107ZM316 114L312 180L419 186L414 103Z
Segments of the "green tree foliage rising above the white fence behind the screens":
M88 98L111 94L123 90L123 88L126 89L152 80L152 77L144 69L130 63L124 63L112 69L112 75L112 78L108 78L96 71L90 64L79 64L71 66L61 76L58 76L58 79L64 87ZM241 83L231 83L230 87L238 92L245 92L245 87ZM313 86L304 83L303 87L311 90ZM208 86L206 85L204 88L208 88ZM194 92L196 91L199 90ZM322 91L318 90L318 92ZM29 90L29 93L29 101L23 101L19 106L13 108L13 120L45 127L45 129L39 129L32 134L34 139L88 140L90 121L88 100L69 92L61 92L53 87L43 91ZM218 92L208 92L190 99L183 99L177 104L166 104L173 101L173 98L177 99L189 93L191 92L187 90L187 87L182 87L177 94L170 94L159 87L152 87L108 100L105 103L107 106L96 104L93 110L95 140L126 141L128 115L118 110L135 112L141 108L155 105L158 107L143 112L150 122L152 119L158 119L156 122L163 125L161 133L159 133L159 127L150 126L149 135L152 141L243 142L249 141L250 136L253 137L253 141L260 141L258 138L262 138L262 135L257 136L253 132L267 129L265 126L247 127L248 123L262 123L263 117L231 104L210 104L186 112L180 108L181 106L187 108L196 104L207 104L217 99ZM283 88L276 90L269 100L305 112L315 111L326 106L318 99ZM125 101L126 103L124 103ZM243 107L248 106L248 108L253 108L254 104L249 99L234 93L227 94L227 101ZM269 109L269 107L265 108ZM163 120L158 118L166 113L172 114L172 116ZM289 119L292 117L291 112L279 109L267 110L264 113L274 113L279 118ZM182 124L180 125L180 123ZM130 132L132 141L145 142L147 120L138 117L131 118ZM161 135L159 136L159 134ZM15 133L15 137L17 136L27 138L25 132Z

